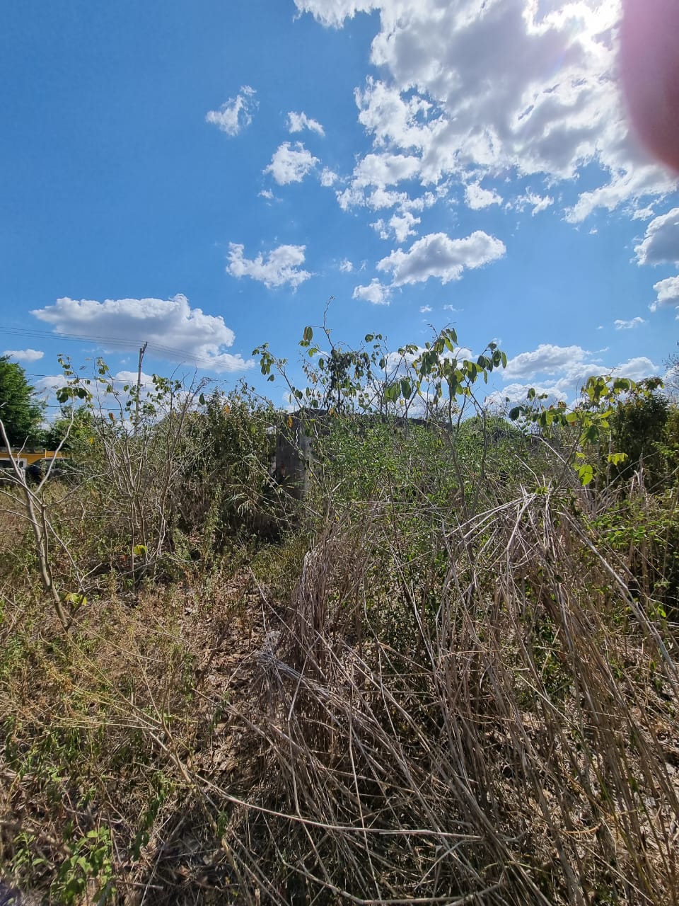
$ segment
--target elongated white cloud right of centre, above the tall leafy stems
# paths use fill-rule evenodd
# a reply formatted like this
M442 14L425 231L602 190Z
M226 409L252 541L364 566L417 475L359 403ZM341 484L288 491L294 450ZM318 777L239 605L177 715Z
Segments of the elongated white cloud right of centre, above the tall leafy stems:
M459 280L465 267L481 267L502 258L504 243L476 230L464 239L445 233L430 233L418 239L407 252L398 249L378 262L378 270L390 272L395 286L422 283L439 277L443 284Z

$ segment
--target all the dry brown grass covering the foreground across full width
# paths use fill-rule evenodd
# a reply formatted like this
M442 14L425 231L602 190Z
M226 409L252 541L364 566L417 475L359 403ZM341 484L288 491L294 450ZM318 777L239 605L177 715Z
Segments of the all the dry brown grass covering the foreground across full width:
M70 636L5 583L5 872L65 902L106 828L83 902L679 902L672 626L569 496L418 518L330 508L303 564L102 593Z

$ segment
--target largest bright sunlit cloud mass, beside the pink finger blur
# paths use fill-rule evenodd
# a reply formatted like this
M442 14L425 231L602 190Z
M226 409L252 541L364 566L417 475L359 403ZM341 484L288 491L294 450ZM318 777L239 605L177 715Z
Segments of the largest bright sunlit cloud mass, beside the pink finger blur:
M370 63L384 74L357 89L359 121L378 154L414 159L409 178L423 185L508 171L553 182L598 164L599 185L569 209L572 222L674 188L628 128L615 75L617 0L295 4L333 27L378 11ZM360 203L350 188L345 203Z

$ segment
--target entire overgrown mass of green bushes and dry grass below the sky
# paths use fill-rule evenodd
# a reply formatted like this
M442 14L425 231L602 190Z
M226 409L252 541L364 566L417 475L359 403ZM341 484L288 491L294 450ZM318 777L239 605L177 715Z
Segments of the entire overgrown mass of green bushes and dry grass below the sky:
M674 404L597 376L512 422L493 344L320 336L288 381L301 501L273 474L292 418L253 390L64 362L71 474L0 485L0 880L678 903Z

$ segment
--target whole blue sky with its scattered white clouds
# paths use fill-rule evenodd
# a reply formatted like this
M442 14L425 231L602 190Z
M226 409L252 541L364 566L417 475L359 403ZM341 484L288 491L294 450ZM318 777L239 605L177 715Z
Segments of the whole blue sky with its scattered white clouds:
M617 88L617 2L5 0L0 352L265 385L454 324L495 389L663 372L679 194ZM122 341L122 342L121 342ZM89 366L88 366L89 367Z

